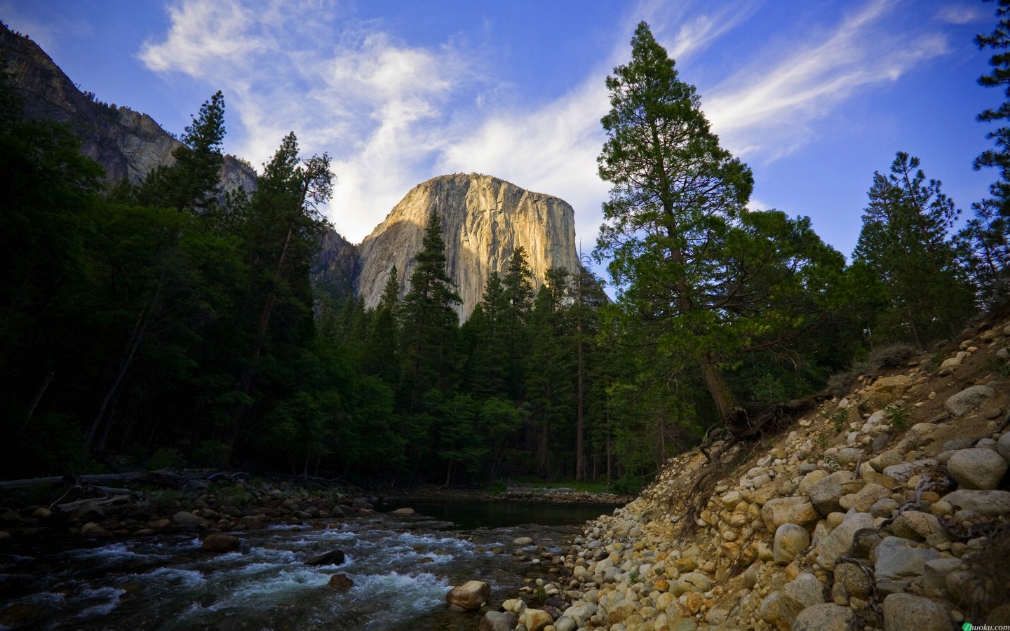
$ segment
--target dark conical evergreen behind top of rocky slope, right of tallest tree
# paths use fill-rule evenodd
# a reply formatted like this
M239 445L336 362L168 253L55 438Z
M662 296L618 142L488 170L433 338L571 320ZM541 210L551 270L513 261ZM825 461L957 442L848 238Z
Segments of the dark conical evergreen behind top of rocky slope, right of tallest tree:
M899 151L890 175L874 174L852 257L880 279L887 297L880 337L925 348L955 334L974 312L947 233L958 212L938 180L926 182L917 157Z

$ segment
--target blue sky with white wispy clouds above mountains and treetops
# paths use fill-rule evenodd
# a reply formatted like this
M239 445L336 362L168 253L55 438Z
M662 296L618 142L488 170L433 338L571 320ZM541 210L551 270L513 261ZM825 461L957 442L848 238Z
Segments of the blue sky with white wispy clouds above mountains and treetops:
M266 162L294 130L327 151L328 215L360 241L415 184L478 172L556 195L595 244L604 79L646 20L723 146L754 172L751 207L808 215L849 255L873 173L896 151L971 214L992 172L975 120L995 26L977 0L0 0L82 89L179 133L220 89L225 150Z

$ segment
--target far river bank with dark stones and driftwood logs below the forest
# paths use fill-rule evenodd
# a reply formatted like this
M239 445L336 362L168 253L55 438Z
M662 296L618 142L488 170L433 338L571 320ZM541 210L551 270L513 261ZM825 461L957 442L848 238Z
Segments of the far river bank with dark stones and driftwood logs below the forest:
M38 539L243 532L271 525L295 526L308 520L326 526L371 515L390 502L395 502L395 508L409 508L413 500L617 505L633 499L522 485L509 486L504 492L418 485L387 489L387 494L376 495L328 481L306 483L227 472L214 474L210 480L192 472L187 479L186 471L162 475L180 479L182 484L153 487L141 482L110 489L78 481L8 492L0 496L0 546L9 549L18 541Z

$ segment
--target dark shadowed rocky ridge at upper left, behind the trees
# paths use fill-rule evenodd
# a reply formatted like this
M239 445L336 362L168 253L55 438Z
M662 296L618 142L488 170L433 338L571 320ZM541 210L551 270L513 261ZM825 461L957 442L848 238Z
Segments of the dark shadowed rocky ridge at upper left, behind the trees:
M109 182L138 182L160 165L172 165L181 143L146 114L95 101L82 93L38 44L0 26L0 54L24 105L27 118L66 122L81 136L81 151L105 167ZM256 171L225 156L226 190L256 189Z

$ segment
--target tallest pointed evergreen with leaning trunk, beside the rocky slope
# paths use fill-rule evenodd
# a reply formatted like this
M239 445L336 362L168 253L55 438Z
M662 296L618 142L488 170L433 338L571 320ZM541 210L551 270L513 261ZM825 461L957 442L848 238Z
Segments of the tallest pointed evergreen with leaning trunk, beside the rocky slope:
M600 177L612 183L603 205L599 257L633 317L680 320L718 415L735 407L718 357L706 347L721 307L712 282L726 233L750 196L750 170L719 146L693 86L645 22L631 39L631 62L607 78L610 112Z

